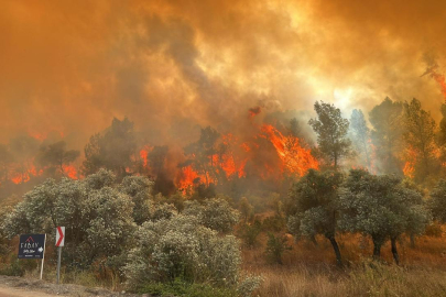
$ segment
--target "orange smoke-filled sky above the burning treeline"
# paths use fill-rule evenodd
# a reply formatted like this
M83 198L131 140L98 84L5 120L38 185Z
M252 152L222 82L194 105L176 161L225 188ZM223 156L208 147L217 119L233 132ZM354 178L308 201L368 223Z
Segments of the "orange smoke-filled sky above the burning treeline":
M367 113L387 96L439 118L444 1L1 1L0 142L81 148L127 116L153 143L242 130L248 110ZM443 33L442 33L443 32ZM349 116L349 114L346 114Z

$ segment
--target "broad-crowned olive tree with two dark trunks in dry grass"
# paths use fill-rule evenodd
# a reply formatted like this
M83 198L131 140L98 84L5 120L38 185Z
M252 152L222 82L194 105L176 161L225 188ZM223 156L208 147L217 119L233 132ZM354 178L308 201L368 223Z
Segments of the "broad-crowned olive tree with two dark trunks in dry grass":
M339 195L339 227L370 235L373 257L391 241L393 257L399 264L396 240L404 232L422 233L428 222L421 194L407 188L393 175L376 176L351 169Z

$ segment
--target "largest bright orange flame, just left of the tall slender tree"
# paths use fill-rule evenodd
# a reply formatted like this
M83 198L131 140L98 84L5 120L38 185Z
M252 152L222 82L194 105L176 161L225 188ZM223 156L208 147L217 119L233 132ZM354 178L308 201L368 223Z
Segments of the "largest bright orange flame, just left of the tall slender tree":
M263 124L261 131L274 145L279 157L282 161L283 169L303 176L311 168L318 169L317 160L311 151L301 146L301 140L295 136L284 136L271 124Z

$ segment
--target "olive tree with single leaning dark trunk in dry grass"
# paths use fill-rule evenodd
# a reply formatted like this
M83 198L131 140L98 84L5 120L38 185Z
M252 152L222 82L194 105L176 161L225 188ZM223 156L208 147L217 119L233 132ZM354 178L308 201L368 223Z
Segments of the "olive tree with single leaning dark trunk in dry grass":
M295 183L290 190L290 206L293 212L289 217L290 231L314 238L322 234L327 238L341 265L341 255L336 241L338 217L338 188L342 183L342 175L337 172L308 173Z

